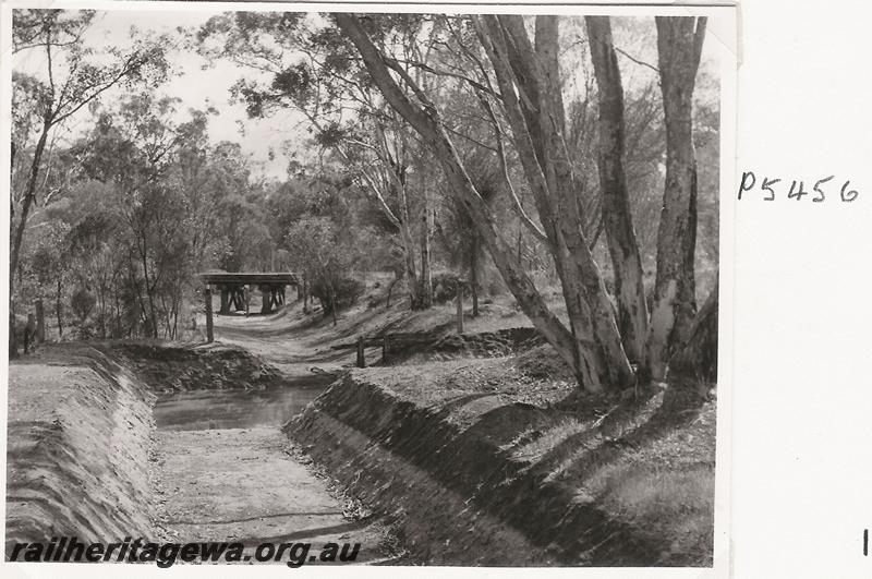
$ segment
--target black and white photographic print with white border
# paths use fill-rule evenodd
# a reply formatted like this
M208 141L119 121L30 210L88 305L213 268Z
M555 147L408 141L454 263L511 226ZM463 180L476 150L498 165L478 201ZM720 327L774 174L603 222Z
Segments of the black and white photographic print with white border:
M736 8L351 8L4 2L5 560L724 572Z

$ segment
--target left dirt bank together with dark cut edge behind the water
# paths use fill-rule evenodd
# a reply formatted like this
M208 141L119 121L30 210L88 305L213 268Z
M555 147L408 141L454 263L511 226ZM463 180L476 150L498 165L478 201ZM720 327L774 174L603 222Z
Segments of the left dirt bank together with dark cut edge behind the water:
M287 382L244 350L102 342L45 346L10 365L7 552L52 536L167 539L157 393ZM276 430L276 438L281 439Z

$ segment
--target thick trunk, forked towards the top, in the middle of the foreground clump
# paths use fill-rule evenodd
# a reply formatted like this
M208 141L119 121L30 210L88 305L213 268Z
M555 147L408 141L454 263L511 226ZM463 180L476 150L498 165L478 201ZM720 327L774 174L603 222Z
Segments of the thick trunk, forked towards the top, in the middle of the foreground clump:
M550 241L579 363L596 369L601 383L628 385L632 369L584 238L579 183L564 138L557 19L536 19L535 49L520 16L483 16L480 38L494 64L516 148Z

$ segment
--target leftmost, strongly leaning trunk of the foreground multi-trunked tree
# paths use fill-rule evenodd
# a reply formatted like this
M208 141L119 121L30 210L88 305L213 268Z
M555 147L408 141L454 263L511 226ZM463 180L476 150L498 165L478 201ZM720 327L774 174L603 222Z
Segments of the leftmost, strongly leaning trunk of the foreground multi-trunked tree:
M360 22L350 14L337 14L336 20L340 28L342 28L342 31L356 46L374 83L376 86L378 86L386 100L412 125L413 129L415 129L415 131L419 132L424 142L433 150L436 159L438 159L443 170L445 171L452 193L457 196L461 205L469 212L473 224L482 236L482 241L485 243L494 258L497 269L499 269L504 280L514 294L521 309L531 319L536 329L543 335L543 337L557 350L560 357L570 365L570 367L573 369L579 383L586 389L598 391L607 387L619 387L629 382L632 377L632 371L629 366L626 355L623 354L623 349L620 345L620 339L617 334L617 325L614 322L614 315L610 313L610 305L608 305L608 300L605 295L605 289L602 285L602 279L598 276L598 270L596 269L592 258L590 258L591 256L586 245L583 243L581 244L581 248L586 251L586 256L589 257L586 262L584 254L579 251L580 248L578 238L581 236L580 227L577 227L576 231L572 231L569 222L553 224L548 222L547 218L545 218L545 222L543 224L546 232L550 232L549 234L553 236L552 239L557 241L557 251L554 252L555 255L557 255L558 258L564 263L568 264L572 268L573 273L579 273L579 270L583 269L588 274L593 274L592 276L588 276L584 280L583 290L579 289L578 287L578 279L581 276L567 276L568 279L574 279L574 281L572 281L574 284L572 293L573 301L570 302L568 300L568 306L571 304L571 307L577 310L577 313L579 314L579 322L581 322L578 325L573 325L572 331L570 331L548 309L526 272L524 272L522 267L519 267L514 260L512 249L506 243L498 232L500 226L494 219L487 203L475 190L469 174L463 168L457 149L453 147L451 140L449 138L439 120L436 108L432 102L429 102L429 100L426 98L426 95L424 95L413 83L410 83L412 88L415 89L416 97L422 105L419 106L412 102L390 75L390 72L388 71L388 63L378 49L372 44L366 33L363 31ZM520 24L523 25L523 22L520 21ZM556 33L556 23L554 27L554 32ZM397 68L395 68L395 70L397 70ZM397 72L398 74L402 75L401 70ZM409 83L411 80L405 77L405 81ZM501 91L505 98L507 93L502 88ZM517 102L514 106L518 106ZM547 142L548 152L556 153L559 160L557 164L546 164L546 166L552 176L557 174L561 179L566 180L566 169L568 165L566 149L561 138L558 138L562 135L560 134L559 129L555 128L553 123L550 123L550 121L555 118L552 116L550 109L542 111L541 114L543 117L548 117L548 125L550 126L549 140ZM560 117L562 118L562 111L560 112ZM526 135L529 141L530 135L526 132L523 134ZM559 144L564 145L564 148L560 149L558 147L557 152L552 150L554 145L557 144L555 141L559 141ZM543 146L544 145L545 143L543 143ZM521 157L523 158L524 152L520 153ZM544 185L545 183L545 179L542 173L543 169L540 167L540 181L537 182L540 185ZM566 185L565 182L561 184ZM558 215L560 212L572 210L571 207L568 208L566 204L566 197L569 196L569 192L562 191L561 193L562 196L560 198L560 203L558 203L558 206L555 208ZM571 205L577 206L574 200L572 200ZM574 213L577 214L578 209L576 209ZM553 213L549 213L548 217L553 215ZM556 227L557 225L560 227ZM572 234L572 237L569 239L569 242L567 242L565 239L567 233ZM584 299L584 292L592 292L594 298L602 295L605 298L605 303L609 307L608 315L611 318L615 340L611 343L608 343L607 348L601 347L601 345L597 343L597 340L593 338L591 331L593 323L596 324L594 327L596 327L597 330L602 330L604 326L607 325L605 323L607 321L598 316L602 303L596 303L593 315L595 322L592 322L592 309L588 306L588 303ZM600 337L598 331L597 337ZM611 358L615 352L611 351L610 348L615 345L620 352L620 357L617 359ZM610 362L615 363L613 364Z

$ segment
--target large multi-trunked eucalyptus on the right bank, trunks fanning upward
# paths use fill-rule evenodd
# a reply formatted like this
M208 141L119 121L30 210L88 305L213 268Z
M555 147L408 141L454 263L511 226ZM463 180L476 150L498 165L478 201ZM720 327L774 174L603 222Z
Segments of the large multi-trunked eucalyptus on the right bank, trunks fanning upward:
M631 236L626 183L621 182L626 179L620 165L623 155L621 144L623 104L618 98L620 84L619 77L615 75L617 69L614 50L609 47L609 31L605 26L607 23L603 21L591 23L592 36L596 41L596 47L592 47L592 51L595 52L593 58L602 92L600 129L603 135L600 145L600 176L601 188L609 189L609 196L604 197L603 203L604 216L608 216L609 219L604 219L604 222L611 229L607 236L610 238L610 246L615 249L613 255L623 276L622 286L627 288L625 297L619 301L623 302L625 306L634 307L626 316L632 331L631 339L621 336L619 316L611 305L585 232L585 229L589 230L585 225L592 219L590 215L585 215L589 212L583 204L579 203L579 178L568 154L565 136L567 123L559 65L559 19L536 16L532 31L533 38L521 16L483 15L472 17L471 22L489 63L489 70L483 67L484 76L493 79L494 87L489 91L485 91L487 87L477 88L483 95L485 108L489 108L486 104L491 98L499 104L511 131L511 141L533 193L538 217L538 224L532 218L524 219L524 224L546 244L554 258L561 281L568 326L548 307L526 272L510 257L509 243L470 178L447 130L443 111L431 95L399 65L396 47L383 43L377 35L374 41L373 31L377 28L371 23L372 20L371 16L336 15L337 24L356 47L373 83L378 86L390 106L421 135L441 165L453 194L469 212L495 265L519 304L535 327L573 369L579 383L592 391L632 384L635 375L625 343L630 343L631 352L639 355L643 337L646 346L642 372L662 378L671 351L683 338L674 335L675 324L670 319L677 312L686 311L689 305L685 290L676 299L678 280L677 274L673 272L677 270L681 275L688 272L686 257L688 255L692 257L693 251L688 240L695 234L689 231L689 227L695 227L695 206L691 203L681 205L676 203L674 197L690 196L677 195L678 191L685 191L686 188L676 183L685 183L688 180L682 180L676 174L681 173L678 169L683 167L682 162L692 160L692 143L688 145L692 133L689 124L683 123L678 126L679 132L674 131L671 136L667 136L667 149L671 147L671 154L667 152L667 161L674 167L673 169L667 167L666 203L658 234L657 278L663 281L657 284L659 289L655 292L654 317L650 321L651 329L646 330L645 322L649 321L639 275L641 269L639 251ZM704 21L699 26L695 23L690 24L693 38L691 43L670 40L671 37L668 35L673 34L670 31L674 26L677 25L658 21L664 106L667 117L673 121L666 122L667 133L670 128L675 129L675 123L683 122L683 113L689 110L682 104L690 102L692 97L692 79L699 64L699 46L704 35ZM695 34L693 34L694 27ZM686 28L686 24L678 25L680 31ZM674 36L680 35L673 34ZM675 79L676 71L682 67L687 70ZM676 86L678 88L675 88ZM676 91L681 95L677 95ZM680 102L675 102L676 99ZM681 116L680 119L675 119L675 112L670 113L676 109ZM499 131L499 123L494 124ZM689 157L688 146L691 147ZM516 207L523 208L517 203ZM664 222L667 225L664 226ZM683 222L687 227L670 226L673 222ZM680 251L675 251L676 248ZM676 255L677 253L680 255ZM692 277L692 265L689 274ZM687 278L682 279L685 284L682 287L686 287ZM692 306L692 302L690 305ZM664 333L667 336L664 336Z

